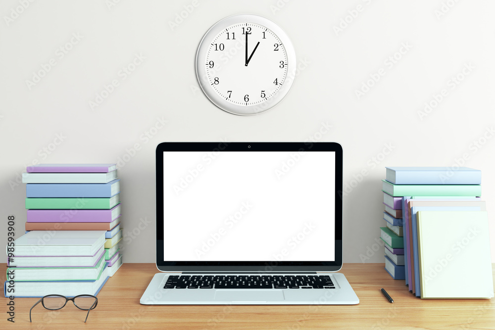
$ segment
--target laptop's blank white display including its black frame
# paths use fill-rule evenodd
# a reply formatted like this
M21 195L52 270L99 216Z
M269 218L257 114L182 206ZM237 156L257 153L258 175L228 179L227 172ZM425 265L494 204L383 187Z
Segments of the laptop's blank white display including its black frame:
M337 143L165 142L156 157L160 270L340 268Z

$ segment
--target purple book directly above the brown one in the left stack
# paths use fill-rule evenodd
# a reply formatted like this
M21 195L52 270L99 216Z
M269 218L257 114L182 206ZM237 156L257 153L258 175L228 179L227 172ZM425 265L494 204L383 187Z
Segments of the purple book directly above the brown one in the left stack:
M27 210L26 222L112 222L120 216L120 205L110 210Z

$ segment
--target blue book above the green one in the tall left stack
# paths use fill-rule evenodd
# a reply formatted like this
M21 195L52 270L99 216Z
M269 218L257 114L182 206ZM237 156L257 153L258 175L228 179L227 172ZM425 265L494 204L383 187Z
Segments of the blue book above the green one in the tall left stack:
M106 184L27 184L26 197L108 198L120 192L120 179Z

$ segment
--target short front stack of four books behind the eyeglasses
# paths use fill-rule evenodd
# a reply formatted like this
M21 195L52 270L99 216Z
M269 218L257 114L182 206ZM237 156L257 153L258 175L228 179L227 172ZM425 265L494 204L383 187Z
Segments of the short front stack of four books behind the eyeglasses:
M97 295L108 280L105 231L31 231L14 240L5 297Z

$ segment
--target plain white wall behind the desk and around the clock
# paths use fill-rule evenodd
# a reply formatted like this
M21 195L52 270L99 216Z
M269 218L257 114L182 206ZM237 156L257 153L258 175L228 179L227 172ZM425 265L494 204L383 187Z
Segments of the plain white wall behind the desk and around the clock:
M111 1L35 1L25 9L27 0L0 2L1 246L7 215L16 217L17 236L24 230L25 186L15 183L27 165L117 162L138 144L119 171L123 227L140 232L126 238L125 261L154 262L154 148L161 141L340 142L344 182L354 187L344 202L345 262L361 262L384 226L385 166L452 166L464 155L466 166L483 171L493 212L494 1ZM172 30L184 6L194 10ZM287 32L301 69L280 104L250 117L211 104L194 66L207 29L245 12ZM343 20L350 23L336 33ZM124 80L119 70L136 54L144 59ZM400 59L392 65L394 54ZM28 86L50 59L56 65ZM466 65L469 74L452 85ZM355 91L378 72L384 75L358 98ZM91 109L89 101L114 79L119 86ZM443 89L443 100L420 118ZM327 124L330 132L320 137ZM147 140L155 125L162 128ZM490 219L495 262L494 213ZM381 248L365 262L383 260Z

